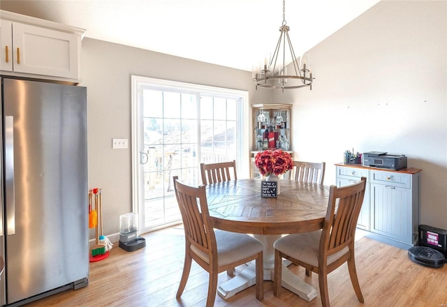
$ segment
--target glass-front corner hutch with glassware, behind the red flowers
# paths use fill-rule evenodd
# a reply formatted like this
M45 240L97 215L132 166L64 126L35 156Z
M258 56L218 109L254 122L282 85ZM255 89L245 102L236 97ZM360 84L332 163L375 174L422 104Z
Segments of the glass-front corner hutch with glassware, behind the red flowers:
M260 177L254 166L254 156L266 149L282 149L293 156L291 151L291 104L251 105L253 114L253 148L250 151L251 178Z

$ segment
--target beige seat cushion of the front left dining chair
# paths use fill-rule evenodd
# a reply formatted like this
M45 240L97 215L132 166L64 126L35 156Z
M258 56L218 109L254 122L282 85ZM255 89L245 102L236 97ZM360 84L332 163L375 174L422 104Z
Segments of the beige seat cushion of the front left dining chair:
M219 266L230 264L237 260L256 255L264 250L264 244L248 234L239 234L237 232L226 232L223 230L214 230L217 242L217 260ZM191 245L193 253L202 260L209 262L208 255Z

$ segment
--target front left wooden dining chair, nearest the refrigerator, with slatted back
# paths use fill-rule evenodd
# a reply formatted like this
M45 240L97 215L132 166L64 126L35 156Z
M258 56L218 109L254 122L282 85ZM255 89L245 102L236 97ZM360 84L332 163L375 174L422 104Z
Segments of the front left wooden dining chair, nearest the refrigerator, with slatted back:
M214 306L217 275L251 260L256 261L256 299L263 293L263 250L261 241L248 234L214 230L208 211L205 186L186 186L173 177L175 196L184 225L185 255L177 299L182 296L192 260L210 274L207 307Z

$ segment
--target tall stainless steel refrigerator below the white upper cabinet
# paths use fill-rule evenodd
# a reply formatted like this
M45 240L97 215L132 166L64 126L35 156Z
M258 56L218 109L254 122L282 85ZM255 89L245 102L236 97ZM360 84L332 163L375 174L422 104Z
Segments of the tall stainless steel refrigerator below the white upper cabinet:
M0 305L88 284L87 89L1 78Z

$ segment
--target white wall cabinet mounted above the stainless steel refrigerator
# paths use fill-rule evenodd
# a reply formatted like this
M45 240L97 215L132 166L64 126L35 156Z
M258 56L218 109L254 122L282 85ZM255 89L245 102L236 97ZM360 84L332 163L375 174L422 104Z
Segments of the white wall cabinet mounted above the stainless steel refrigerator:
M0 10L1 74L78 83L84 33Z

